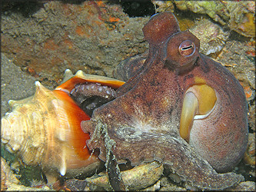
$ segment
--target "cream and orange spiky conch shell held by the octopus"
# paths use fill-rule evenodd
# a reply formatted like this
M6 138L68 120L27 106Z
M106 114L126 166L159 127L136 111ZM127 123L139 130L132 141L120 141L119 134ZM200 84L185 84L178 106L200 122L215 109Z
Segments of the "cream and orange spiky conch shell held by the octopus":
M71 74L66 70L65 74ZM124 81L84 74L78 71L55 90L35 82L35 95L21 101L8 101L12 112L2 118L2 143L17 152L27 165L41 164L44 170L58 170L63 176L97 167L98 157L86 146L89 134L81 130L81 121L90 117L69 96L75 84L103 82L118 88Z

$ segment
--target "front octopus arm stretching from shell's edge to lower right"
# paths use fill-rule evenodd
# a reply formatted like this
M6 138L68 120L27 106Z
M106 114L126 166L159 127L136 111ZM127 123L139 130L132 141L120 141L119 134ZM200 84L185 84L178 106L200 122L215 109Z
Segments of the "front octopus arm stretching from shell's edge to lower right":
M82 124L85 130L88 123L89 121L84 121ZM177 135L141 132L132 127L119 127L115 132L99 119L93 133L87 143L89 148L98 147L105 151L107 147L115 154L119 164L131 161L131 165L135 166L154 160L168 164L171 170L186 182L188 188L223 190L244 180L243 176L234 173L218 174L208 161L198 156L193 148ZM108 146L106 139L105 144L95 142L101 141L102 137L112 141L111 144ZM100 157L105 160L108 154L103 155L103 151Z

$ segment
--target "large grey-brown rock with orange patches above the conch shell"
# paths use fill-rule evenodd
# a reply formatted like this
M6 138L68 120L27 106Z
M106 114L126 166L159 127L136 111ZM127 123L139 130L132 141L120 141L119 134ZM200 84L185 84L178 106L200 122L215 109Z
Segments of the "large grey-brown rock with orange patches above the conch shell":
M148 18L128 18L120 5L53 1L28 16L20 6L2 14L2 51L41 81L56 85L66 68L111 76L119 61L145 51Z

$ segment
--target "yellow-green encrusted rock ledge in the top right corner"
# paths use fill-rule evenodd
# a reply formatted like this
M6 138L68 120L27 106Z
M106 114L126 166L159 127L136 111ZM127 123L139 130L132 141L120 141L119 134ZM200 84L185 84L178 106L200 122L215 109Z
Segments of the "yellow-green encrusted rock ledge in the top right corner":
M172 11L174 7L185 12L208 15L214 22L227 25L245 37L255 37L254 1L153 1L157 12Z

